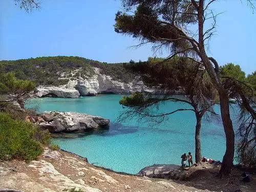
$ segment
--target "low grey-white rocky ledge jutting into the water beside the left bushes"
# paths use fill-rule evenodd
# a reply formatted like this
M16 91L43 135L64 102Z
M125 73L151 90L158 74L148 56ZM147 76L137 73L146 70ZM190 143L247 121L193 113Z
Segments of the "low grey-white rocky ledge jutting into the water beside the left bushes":
M108 126L109 119L99 116L92 116L76 112L45 112L37 119L33 119L39 124L40 129L49 130L50 133L91 131Z

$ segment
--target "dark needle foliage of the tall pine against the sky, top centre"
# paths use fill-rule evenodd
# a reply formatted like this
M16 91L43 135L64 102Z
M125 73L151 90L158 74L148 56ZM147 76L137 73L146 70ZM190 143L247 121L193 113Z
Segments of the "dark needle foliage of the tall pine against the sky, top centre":
M160 47L159 44L174 51L190 46L186 39L180 38L179 29L173 25L175 23L185 27L197 22L196 9L188 1L170 3L161 0L150 2L123 0L122 2L123 10L126 12L116 13L114 28L117 33L141 39L142 44L156 43L157 49ZM134 14L130 15L131 13Z

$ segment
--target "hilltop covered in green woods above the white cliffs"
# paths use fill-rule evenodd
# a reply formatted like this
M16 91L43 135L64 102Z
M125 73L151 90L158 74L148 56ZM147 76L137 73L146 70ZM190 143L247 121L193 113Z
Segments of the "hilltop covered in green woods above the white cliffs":
M101 69L101 73L110 75L113 80L130 82L135 73L125 67L128 63L106 63L76 56L36 57L19 60L0 61L0 74L13 72L18 79L30 79L36 85L60 86L66 84L66 77L89 78L95 74L93 67ZM82 69L74 73L75 69Z

